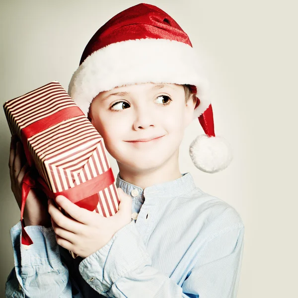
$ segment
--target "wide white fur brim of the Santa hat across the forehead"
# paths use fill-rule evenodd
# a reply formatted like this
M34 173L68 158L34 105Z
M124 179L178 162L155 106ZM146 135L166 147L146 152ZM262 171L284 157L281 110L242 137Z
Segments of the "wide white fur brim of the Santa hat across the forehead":
M194 118L211 102L195 50L182 42L150 38L113 43L92 53L74 72L69 94L87 115L99 92L147 82L195 85L200 104Z

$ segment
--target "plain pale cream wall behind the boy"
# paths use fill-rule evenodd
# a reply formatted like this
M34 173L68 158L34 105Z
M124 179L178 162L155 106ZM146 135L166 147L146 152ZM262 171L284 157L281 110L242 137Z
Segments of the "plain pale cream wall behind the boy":
M238 298L297 295L296 1L149 1L189 34L211 81L216 134L231 144L224 171L196 169L188 146L203 130L193 121L181 145L181 172L233 206L245 225ZM1 1L0 102L54 79L66 89L95 31L139 3ZM296 7L295 7L296 6ZM10 135L0 109L0 297L13 267L9 229L20 212L10 190ZM112 161L114 174L118 169Z

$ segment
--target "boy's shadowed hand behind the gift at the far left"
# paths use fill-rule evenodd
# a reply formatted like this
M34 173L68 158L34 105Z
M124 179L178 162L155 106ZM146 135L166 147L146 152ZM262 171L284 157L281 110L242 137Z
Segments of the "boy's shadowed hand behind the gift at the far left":
M22 180L29 170L23 146L16 136L11 137L9 154L9 174L11 190L15 200L21 209ZM51 218L48 213L47 197L39 190L31 189L25 204L23 214L25 225L51 226Z

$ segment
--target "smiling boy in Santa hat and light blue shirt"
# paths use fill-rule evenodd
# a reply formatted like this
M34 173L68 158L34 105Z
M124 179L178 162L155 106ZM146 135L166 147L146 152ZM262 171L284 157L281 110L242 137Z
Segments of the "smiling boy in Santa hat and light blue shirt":
M31 192L24 221L34 244L20 245L20 223L11 228L15 270L7 297L236 297L241 218L178 165L184 129L198 116L206 136L191 145L195 165L216 172L231 160L221 140L208 151L218 137L198 67L188 36L153 5L130 7L95 33L69 92L117 160L119 211L103 218L58 196L72 219L50 200L50 223ZM15 149L12 141L17 201L22 164L20 145ZM68 249L79 257L72 259Z

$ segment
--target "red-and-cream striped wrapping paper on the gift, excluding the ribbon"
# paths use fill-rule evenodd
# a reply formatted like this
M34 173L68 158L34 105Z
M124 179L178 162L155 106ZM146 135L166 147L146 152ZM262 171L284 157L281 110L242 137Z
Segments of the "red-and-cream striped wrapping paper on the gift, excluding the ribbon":
M77 116L50 125L27 140L35 166L53 193L74 188L111 168L102 137L58 81L8 100L3 108L11 134L20 139L21 130L37 121L53 119L59 111L77 109ZM105 217L117 212L115 183L97 196L94 212Z

